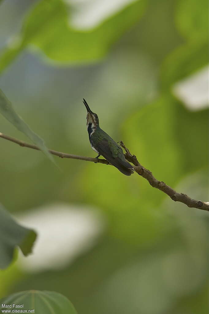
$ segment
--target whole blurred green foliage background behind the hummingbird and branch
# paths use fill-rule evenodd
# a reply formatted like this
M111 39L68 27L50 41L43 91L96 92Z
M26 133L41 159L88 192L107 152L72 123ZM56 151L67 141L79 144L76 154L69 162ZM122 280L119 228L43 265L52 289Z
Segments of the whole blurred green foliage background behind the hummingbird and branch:
M206 0L0 3L0 86L47 147L94 157L100 126L160 181L208 197ZM0 116L0 132L26 140ZM208 215L137 175L0 139L0 202L38 231L0 297L54 290L82 314L208 313Z

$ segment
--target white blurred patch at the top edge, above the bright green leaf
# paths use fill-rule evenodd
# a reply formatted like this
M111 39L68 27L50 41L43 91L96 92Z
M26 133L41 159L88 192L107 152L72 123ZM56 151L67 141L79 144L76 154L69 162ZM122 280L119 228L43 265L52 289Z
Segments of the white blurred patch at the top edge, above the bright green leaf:
M91 29L135 0L65 0L71 5L70 24Z

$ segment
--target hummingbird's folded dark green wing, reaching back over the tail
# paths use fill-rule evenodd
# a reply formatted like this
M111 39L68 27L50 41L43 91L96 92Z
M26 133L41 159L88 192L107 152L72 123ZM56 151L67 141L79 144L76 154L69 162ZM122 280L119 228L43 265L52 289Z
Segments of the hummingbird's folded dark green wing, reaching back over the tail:
M133 173L133 166L126 161L122 148L115 142L103 139L95 145L95 148L107 161L118 168L124 175L130 176Z

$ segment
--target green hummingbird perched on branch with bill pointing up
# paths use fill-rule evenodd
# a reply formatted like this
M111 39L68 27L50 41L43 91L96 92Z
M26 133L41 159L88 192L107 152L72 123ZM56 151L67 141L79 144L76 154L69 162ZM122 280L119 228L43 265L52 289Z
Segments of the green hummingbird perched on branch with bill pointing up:
M126 176L133 173L133 166L125 159L122 148L99 127L99 119L96 113L92 112L86 100L83 103L87 110L87 131L91 148L98 154L97 159L102 155L109 163L118 168Z

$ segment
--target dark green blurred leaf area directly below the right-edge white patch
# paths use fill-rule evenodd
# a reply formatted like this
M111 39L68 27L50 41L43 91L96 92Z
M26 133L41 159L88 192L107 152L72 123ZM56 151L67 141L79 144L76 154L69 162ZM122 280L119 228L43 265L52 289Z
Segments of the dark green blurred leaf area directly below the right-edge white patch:
M208 168L208 109L190 111L173 100L175 140L180 152L182 175Z

